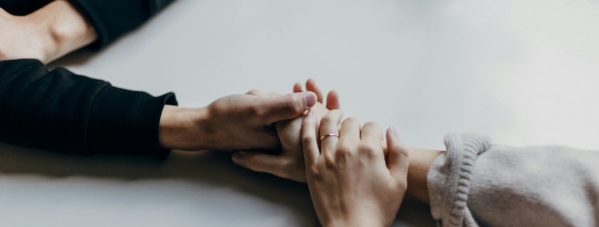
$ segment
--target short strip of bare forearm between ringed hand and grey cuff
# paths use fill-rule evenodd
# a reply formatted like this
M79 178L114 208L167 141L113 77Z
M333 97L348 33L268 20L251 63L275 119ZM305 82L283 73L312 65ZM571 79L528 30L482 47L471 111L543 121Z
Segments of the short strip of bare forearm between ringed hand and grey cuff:
M411 147L408 149L410 151L410 165L408 168L408 190L405 194L429 203L427 174L432 162L442 151Z

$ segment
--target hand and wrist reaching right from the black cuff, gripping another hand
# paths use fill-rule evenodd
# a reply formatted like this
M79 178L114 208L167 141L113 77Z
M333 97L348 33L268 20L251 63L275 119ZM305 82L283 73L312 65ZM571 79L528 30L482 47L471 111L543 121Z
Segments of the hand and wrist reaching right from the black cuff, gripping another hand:
M302 115L316 104L312 92L284 96L229 95L200 109L165 106L159 141L170 149L234 151L281 149L274 122Z

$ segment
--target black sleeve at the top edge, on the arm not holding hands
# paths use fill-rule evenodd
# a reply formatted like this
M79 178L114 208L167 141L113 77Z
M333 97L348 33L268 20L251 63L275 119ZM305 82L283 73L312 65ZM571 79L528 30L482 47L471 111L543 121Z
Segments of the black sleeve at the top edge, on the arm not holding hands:
M69 0L94 26L100 49L138 28L174 0Z

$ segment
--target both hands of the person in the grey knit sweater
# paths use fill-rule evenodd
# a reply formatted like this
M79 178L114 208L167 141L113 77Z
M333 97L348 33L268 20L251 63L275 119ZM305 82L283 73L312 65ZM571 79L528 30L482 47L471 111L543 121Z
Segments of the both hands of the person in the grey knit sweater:
M342 121L337 93L327 107L314 81L306 83L318 102L303 115L274 124L281 141L278 155L238 151L233 161L258 172L307 182L323 226L389 226L407 189L408 149L395 129L378 124L361 127L355 118ZM294 92L303 92L296 84ZM281 97L252 91L250 95ZM322 119L322 120L321 120Z

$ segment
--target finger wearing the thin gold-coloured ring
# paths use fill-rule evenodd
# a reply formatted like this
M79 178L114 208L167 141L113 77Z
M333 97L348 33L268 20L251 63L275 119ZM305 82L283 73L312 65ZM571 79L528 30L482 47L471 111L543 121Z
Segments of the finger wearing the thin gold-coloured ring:
M320 148L322 153L335 151L337 141L339 141L339 127L337 125L341 122L343 117L343 111L331 110L320 121ZM326 136L328 134L336 134L337 136ZM325 137L323 137L325 136Z

